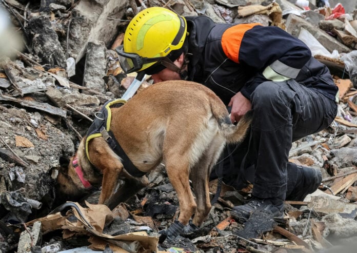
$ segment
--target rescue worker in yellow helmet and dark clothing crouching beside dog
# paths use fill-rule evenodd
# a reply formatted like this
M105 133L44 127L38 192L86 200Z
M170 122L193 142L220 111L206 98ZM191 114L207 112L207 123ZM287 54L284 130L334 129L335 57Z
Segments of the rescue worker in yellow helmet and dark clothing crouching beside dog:
M233 123L253 110L249 137L225 153L233 159L224 160L224 182L236 189L254 185L233 218L245 221L254 210L281 217L284 200L302 201L320 185L320 170L289 163L288 155L292 142L333 121L338 88L302 41L279 27L216 24L151 7L132 19L117 52L126 73L212 89L231 108ZM218 176L213 170L212 179Z

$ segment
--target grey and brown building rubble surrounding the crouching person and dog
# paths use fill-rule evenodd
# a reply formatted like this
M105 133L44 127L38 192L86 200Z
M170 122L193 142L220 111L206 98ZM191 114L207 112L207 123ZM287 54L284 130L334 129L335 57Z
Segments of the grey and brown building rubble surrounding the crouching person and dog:
M332 2L1 0L0 250L354 251L357 6ZM112 211L96 205L98 191L80 203L58 202L58 161L74 154L95 112L121 98L131 83L134 75L122 71L114 49L131 18L152 6L182 16L207 15L220 23L278 26L304 41L329 67L340 90L338 116L329 128L294 142L289 157L320 169L323 185L303 202L286 201L283 220L253 213L245 224L234 221L229 211L244 202L251 187L237 191L223 185L199 231L159 242L159 232L179 212L164 165L149 174L149 187ZM150 76L146 81L150 84ZM212 196L216 188L217 182L211 182Z

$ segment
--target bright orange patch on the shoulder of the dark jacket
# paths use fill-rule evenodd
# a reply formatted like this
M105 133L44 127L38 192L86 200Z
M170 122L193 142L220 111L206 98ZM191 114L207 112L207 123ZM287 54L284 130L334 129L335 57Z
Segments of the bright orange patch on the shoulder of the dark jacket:
M254 26L262 25L259 23L239 24L232 26L222 34L222 48L227 57L233 62L239 63L239 50L246 31Z

